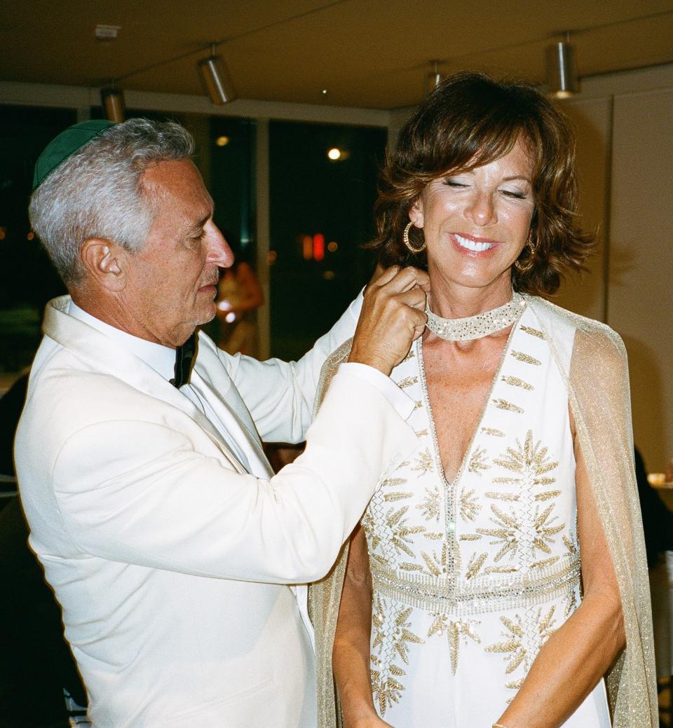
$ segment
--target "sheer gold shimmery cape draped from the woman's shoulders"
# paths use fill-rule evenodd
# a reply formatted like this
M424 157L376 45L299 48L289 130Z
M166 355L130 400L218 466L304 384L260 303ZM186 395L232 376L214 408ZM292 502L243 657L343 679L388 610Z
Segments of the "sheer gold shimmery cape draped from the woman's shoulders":
M634 474L626 349L605 324L568 312L543 298L524 298L538 318L567 384L577 437L621 594L626 648L606 674L613 726L656 728L659 723L650 587ZM559 336L561 331L566 335ZM564 352L563 347L571 347L572 352ZM350 341L346 341L323 365L316 407L349 351ZM570 366L563 362L570 362ZM331 663L347 553L348 544L330 573L309 592L318 669L318 728L342 724Z

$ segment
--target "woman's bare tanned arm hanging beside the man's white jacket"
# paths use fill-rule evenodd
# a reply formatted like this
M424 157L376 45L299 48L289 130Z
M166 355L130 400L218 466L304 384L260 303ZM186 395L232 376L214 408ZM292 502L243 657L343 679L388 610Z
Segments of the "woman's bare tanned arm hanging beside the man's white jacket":
M383 728L374 709L369 673L371 637L371 572L367 542L358 524L350 550L342 590L332 667L337 681L345 728Z

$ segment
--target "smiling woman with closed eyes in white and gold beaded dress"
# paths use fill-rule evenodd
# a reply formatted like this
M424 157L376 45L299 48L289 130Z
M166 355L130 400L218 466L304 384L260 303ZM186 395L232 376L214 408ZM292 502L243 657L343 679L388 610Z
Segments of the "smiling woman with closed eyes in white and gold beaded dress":
M591 247L573 157L537 90L457 74L387 161L372 247L430 274L392 375L418 448L312 590L324 726L330 662L347 728L607 728L606 673L615 726L658 724L623 345L538 297Z

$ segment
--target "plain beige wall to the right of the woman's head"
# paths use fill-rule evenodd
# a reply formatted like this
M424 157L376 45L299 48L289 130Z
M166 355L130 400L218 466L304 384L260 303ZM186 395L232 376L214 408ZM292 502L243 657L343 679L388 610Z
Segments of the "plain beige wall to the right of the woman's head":
M673 457L673 66L583 79L564 108L578 127L582 212L602 245L559 303L624 339L634 440L661 471Z

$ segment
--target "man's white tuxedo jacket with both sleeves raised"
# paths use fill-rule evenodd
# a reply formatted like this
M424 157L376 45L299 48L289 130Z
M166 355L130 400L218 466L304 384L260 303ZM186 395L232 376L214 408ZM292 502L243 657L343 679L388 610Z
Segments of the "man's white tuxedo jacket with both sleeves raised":
M412 429L338 373L347 312L299 363L200 335L192 384L240 423L245 472L192 402L129 350L47 306L15 457L31 547L63 607L95 728L315 726L310 636L287 585L318 579ZM259 434L258 434L259 433ZM306 452L272 477L260 438Z

